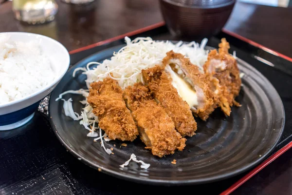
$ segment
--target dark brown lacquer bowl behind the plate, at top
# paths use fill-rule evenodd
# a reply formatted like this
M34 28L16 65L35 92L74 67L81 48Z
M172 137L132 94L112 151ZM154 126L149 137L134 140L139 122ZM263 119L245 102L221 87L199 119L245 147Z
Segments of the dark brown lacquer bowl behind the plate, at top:
M236 0L160 0L169 31L178 37L205 38L220 32Z

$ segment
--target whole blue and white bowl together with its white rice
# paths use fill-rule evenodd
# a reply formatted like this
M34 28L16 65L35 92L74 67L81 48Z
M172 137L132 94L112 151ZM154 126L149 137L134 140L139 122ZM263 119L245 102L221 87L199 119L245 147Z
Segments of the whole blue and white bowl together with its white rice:
M0 130L18 128L34 117L69 68L67 49L33 33L0 33Z

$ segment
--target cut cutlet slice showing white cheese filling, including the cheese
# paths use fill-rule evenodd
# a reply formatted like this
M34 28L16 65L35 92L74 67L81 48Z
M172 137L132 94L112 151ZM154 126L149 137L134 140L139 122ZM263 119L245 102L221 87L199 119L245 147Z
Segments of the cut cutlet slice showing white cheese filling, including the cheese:
M166 54L162 63L173 85L177 86L180 96L189 104L194 115L206 120L217 107L217 99L206 76L182 54L173 51Z

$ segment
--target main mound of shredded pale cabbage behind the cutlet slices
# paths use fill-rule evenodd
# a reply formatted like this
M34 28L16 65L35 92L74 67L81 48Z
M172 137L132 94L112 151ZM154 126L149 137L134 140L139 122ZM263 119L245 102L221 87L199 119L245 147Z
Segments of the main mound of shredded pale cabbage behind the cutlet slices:
M91 82L111 77L117 80L119 85L125 89L135 82L141 81L144 83L141 70L161 64L162 59L170 50L185 55L201 69L208 57L208 51L204 50L207 39L203 39L201 45L194 41L190 43L179 41L174 44L170 41L155 41L150 37L136 38L132 41L125 37L125 41L127 45L117 53L113 53L110 60L106 59L102 63L90 62L86 68L77 68L73 76L77 71L83 71L83 74L87 76L85 81L88 88ZM92 64L97 64L98 66L90 69Z

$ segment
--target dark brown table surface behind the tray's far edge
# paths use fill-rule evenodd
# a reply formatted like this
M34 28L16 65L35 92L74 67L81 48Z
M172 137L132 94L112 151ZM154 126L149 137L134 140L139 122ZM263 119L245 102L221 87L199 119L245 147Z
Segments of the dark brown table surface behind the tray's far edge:
M53 22L23 25L14 19L12 3L0 5L0 32L33 32L57 39L71 51L163 21L158 0L95 0L74 6L57 0ZM237 2L225 25L229 31L292 57L292 7Z

